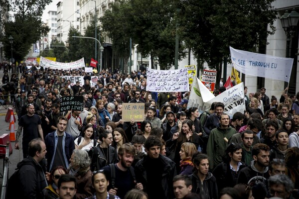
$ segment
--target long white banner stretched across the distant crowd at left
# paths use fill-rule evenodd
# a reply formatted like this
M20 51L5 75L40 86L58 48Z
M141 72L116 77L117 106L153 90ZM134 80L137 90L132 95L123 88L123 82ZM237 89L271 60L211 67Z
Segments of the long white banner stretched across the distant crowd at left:
M58 70L65 70L65 71L85 67L84 58L79 59L75 62L62 63L62 62L54 62L44 57L40 57L39 65L43 66L44 68L58 69Z

